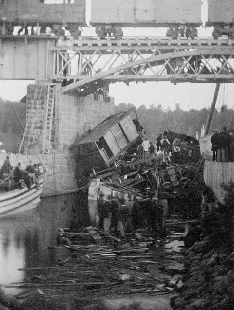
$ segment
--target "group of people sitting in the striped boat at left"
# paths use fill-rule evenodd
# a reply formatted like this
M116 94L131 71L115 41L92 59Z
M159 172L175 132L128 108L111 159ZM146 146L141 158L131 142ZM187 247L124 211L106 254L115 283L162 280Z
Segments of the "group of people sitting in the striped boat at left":
M10 157L7 156L0 170L0 185L6 189L30 188L35 184L39 186L39 175L44 173L41 163L27 165L22 169L21 163L14 168L10 163Z

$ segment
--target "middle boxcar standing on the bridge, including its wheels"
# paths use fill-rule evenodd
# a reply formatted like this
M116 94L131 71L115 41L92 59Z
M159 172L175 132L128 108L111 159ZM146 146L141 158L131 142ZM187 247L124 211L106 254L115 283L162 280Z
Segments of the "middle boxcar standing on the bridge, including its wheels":
M92 0L90 24L98 36L121 38L121 27L169 27L167 36L196 37L201 0Z

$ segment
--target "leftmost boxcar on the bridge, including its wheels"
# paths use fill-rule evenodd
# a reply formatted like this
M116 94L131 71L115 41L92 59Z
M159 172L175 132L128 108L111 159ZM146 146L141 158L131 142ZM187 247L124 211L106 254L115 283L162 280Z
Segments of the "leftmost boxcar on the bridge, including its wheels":
M15 26L40 27L40 33L52 28L57 35L65 25L71 35L79 36L85 26L85 0L1 0L1 34L12 34Z

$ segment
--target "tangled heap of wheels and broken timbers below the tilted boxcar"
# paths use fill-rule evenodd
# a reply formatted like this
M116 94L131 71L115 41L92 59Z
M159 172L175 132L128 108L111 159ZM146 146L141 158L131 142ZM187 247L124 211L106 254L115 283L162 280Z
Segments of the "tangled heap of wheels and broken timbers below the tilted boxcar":
M167 198L200 200L202 190L203 161L189 165L172 164L165 166L156 156L145 159L119 160L110 168L90 174L92 180L138 199L157 197L159 192ZM91 183L92 184L92 183Z

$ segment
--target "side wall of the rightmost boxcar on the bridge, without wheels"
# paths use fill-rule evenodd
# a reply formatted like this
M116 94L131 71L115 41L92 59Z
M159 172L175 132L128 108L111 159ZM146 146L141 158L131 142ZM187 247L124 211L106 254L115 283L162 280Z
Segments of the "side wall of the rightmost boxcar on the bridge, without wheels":
M234 0L208 0L208 25L220 22L234 22Z

